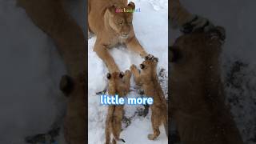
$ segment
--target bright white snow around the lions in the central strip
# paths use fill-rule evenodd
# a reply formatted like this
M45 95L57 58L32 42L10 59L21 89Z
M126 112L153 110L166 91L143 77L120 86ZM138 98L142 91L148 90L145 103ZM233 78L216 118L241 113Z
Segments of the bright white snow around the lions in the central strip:
M141 9L140 13L134 13L134 31L139 42L150 54L154 54L159 58L158 71L165 69L162 79L162 86L167 91L167 67L168 67L168 20L167 20L167 0L136 0L135 5ZM102 60L94 53L93 47L96 38L90 38L88 41L88 107L89 107L89 143L102 144L105 142L105 120L107 106L100 106L100 96L95 93L106 88L106 74L108 72ZM138 65L142 62L142 58L138 54L134 54L125 47L119 46L118 49L110 50L110 54L114 55L114 60L118 64L120 70L128 70L132 64ZM161 74L159 74L161 75ZM134 87L134 82L131 82ZM131 95L138 95L131 92ZM123 123L123 131L121 138L126 143L132 144L165 144L167 143L166 134L162 128L162 134L156 141L149 141L147 134L152 133L150 125L150 114L144 117L138 116L136 112L142 106L125 106L126 117L130 118L130 126L126 127ZM135 113L135 115L134 115Z

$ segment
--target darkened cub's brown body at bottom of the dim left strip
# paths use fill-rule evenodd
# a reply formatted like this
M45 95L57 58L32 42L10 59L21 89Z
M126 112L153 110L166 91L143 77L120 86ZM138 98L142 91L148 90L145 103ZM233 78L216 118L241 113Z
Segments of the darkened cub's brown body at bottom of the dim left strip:
M64 136L69 144L86 143L86 74L74 78L74 89L69 94L64 123Z

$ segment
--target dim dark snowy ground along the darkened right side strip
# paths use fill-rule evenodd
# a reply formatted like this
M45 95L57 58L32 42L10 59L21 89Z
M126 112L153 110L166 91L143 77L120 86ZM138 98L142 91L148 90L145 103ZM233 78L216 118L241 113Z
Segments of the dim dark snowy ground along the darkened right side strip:
M227 102L246 144L256 143L256 17L254 0L181 0L194 14L226 28L222 70ZM171 30L171 41L178 32Z

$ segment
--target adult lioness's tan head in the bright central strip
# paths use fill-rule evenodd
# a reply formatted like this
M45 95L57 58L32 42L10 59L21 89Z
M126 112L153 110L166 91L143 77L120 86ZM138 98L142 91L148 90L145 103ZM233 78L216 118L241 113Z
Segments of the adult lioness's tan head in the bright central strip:
M128 38L132 29L133 13L119 11L123 9L134 10L134 2L130 2L126 7L110 6L106 10L107 21L119 38Z

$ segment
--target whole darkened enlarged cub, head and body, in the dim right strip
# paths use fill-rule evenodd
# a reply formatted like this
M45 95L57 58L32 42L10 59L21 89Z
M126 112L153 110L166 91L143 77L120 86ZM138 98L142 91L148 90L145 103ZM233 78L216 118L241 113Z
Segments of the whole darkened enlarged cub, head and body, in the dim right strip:
M170 112L182 143L242 144L225 104L215 32L183 35L170 48Z

